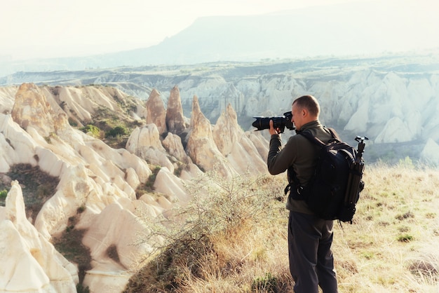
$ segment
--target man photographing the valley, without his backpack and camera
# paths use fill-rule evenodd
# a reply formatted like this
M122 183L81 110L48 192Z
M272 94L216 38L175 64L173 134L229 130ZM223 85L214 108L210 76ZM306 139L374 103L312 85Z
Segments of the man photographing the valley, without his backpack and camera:
M315 97L304 95L292 103L292 118L296 132L309 131L323 142L332 139L318 120L320 106ZM318 159L318 147L302 135L294 135L288 139L281 149L279 129L273 128L270 121L270 150L267 166L271 175L288 170L288 182L298 181L300 186L309 183ZM297 198L297 192L290 191L287 209L290 210L288 220L288 252L290 273L295 280L296 293L318 292L318 286L324 293L337 292L337 276L334 271L332 257L332 224L316 217L304 200ZM296 196L295 196L296 195Z

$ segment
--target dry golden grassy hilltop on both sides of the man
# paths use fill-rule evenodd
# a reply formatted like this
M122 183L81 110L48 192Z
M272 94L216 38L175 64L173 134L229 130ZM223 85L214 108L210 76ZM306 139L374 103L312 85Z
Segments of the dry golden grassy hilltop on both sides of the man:
M375 165L364 179L353 224L335 224L339 292L439 292L439 170ZM292 292L284 184L195 186L191 216L176 213L185 224L126 292Z

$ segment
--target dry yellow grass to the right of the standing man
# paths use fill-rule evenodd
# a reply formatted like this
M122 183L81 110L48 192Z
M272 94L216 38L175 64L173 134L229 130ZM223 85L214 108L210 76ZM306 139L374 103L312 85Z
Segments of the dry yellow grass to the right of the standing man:
M353 225L335 231L341 292L439 292L439 170L377 165Z

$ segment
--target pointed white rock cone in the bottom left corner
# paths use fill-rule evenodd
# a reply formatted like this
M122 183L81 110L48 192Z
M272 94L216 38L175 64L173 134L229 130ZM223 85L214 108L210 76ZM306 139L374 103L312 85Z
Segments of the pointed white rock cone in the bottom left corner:
M76 292L78 268L27 220L18 182L0 207L0 292Z

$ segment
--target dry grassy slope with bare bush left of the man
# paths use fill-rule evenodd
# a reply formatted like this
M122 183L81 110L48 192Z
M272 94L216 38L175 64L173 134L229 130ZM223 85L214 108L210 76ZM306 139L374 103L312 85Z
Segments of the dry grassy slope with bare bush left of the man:
M160 225L149 225L151 236L166 240L144 268L158 285L136 274L126 292L290 292L284 289L291 278L279 183L276 177L250 175L225 182L211 173L194 180L187 186L191 202Z

